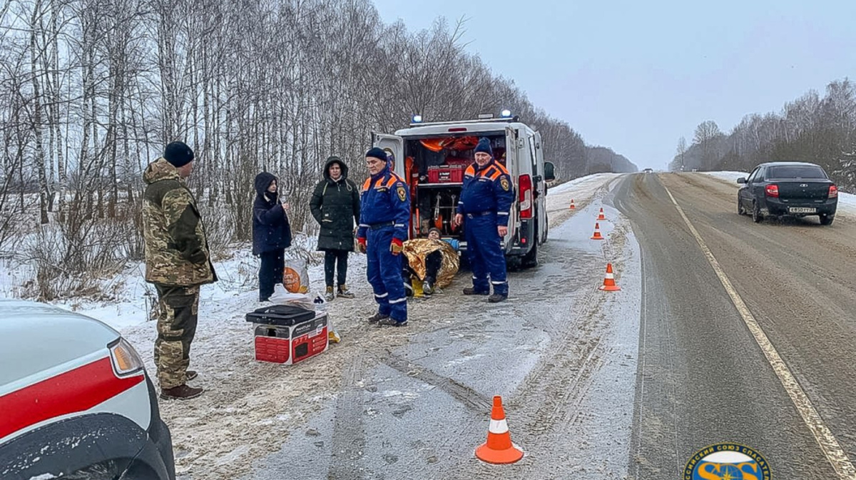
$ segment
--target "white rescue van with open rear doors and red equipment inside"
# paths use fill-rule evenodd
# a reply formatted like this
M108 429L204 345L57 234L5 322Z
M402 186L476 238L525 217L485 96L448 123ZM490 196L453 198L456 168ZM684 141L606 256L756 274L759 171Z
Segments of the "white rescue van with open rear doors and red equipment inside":
M372 144L391 154L395 173L410 187L410 238L426 237L430 228L439 228L444 238L459 240L466 251L466 222L456 228L453 221L464 170L475 161L473 149L481 137L490 139L494 158L514 182L508 234L502 239L506 257L511 266L535 266L538 246L547 241L547 182L555 179L553 164L544 162L538 132L510 114L431 123L414 116L409 128L394 135L372 133Z

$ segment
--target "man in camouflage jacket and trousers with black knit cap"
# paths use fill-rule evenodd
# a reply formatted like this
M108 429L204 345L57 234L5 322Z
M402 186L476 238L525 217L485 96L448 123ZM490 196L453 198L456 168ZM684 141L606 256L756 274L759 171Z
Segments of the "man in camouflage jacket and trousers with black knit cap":
M173 142L143 173L146 281L158 290L155 364L161 398L166 400L191 399L203 392L187 385L196 376L187 366L196 334L199 286L217 281L205 227L184 182L192 171L193 151L183 142Z

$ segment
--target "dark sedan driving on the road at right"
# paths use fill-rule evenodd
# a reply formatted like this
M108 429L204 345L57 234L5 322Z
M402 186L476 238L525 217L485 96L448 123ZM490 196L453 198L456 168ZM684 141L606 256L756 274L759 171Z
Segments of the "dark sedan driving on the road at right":
M752 215L758 223L766 215L820 217L822 225L831 225L838 208L838 187L829 175L814 163L761 163L737 193L737 213Z

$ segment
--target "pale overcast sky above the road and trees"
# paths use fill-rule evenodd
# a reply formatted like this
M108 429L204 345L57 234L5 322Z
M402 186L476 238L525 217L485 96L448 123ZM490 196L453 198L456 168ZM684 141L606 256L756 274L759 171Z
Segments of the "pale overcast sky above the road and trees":
M589 145L664 169L698 123L728 132L856 76L856 0L375 0L408 29L467 17L465 40ZM524 120L525 121L525 120Z

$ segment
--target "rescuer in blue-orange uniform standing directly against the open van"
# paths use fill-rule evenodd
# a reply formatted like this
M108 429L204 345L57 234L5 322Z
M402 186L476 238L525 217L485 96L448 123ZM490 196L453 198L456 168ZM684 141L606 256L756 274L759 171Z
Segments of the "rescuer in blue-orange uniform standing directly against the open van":
M489 139L479 139L475 160L464 172L464 187L455 215L455 224L466 222L467 258L473 269L473 287L464 288L464 294L490 295L492 284L493 294L488 301L496 303L508 298L502 237L508 234L514 185L508 170L493 158Z

